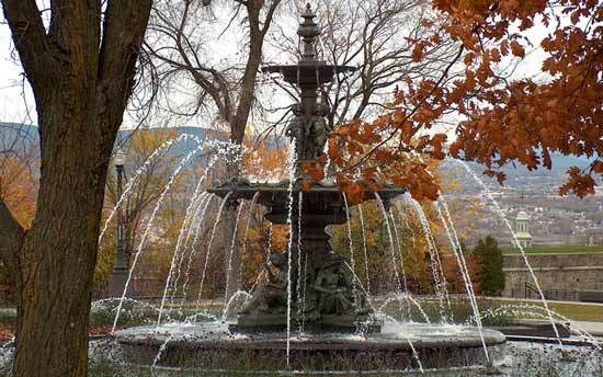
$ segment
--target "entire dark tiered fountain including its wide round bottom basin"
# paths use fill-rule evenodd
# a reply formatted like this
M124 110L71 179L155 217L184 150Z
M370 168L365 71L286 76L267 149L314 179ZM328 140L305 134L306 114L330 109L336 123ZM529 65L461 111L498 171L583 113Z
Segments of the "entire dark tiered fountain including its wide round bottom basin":
M223 198L221 207L247 199L269 208L264 216L269 221L289 226L287 250L270 255L264 266L268 278L234 321L190 318L161 324L159 320L157 325L117 331L116 341L130 355L128 359L136 354L153 366L422 370L489 364L488 347L505 342L500 332L481 329L480 323L477 328L399 323L373 307L350 267L353 260L331 250L326 228L346 224L351 204L332 182L304 186L302 167L321 163L318 158L330 132L325 121L327 104L318 90L337 73L354 68L318 60L315 44L320 30L309 4L302 16L297 32L302 59L297 65L263 68L300 90L286 129L294 147L289 179L261 183L240 178L208 190ZM367 190L364 197L377 199L387 217L390 202L403 193L385 185L377 193ZM399 290L401 300L412 300L401 285Z

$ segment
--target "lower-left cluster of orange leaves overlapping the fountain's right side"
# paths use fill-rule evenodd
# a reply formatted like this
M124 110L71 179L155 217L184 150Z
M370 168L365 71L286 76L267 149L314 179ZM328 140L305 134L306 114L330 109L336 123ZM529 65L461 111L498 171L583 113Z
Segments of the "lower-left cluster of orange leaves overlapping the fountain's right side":
M377 191L385 183L406 187L417 199L435 199L439 185L430 173L433 159L444 157L444 135L418 136L419 127L409 119L412 114L394 111L374 123L353 122L335 129L329 140L330 163L342 168L334 173L338 185L351 203L360 203L366 192ZM416 114L430 117L428 110ZM396 129L389 134L391 129ZM418 153L420 151L420 153ZM323 161L306 164L311 179L323 176Z

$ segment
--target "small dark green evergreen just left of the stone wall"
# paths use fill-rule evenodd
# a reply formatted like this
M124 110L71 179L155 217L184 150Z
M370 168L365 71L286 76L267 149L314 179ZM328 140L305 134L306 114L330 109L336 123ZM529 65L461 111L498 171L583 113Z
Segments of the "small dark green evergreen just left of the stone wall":
M479 266L481 294L500 296L504 289L504 272L502 271L502 251L497 240L490 236L479 240L474 249L474 256Z

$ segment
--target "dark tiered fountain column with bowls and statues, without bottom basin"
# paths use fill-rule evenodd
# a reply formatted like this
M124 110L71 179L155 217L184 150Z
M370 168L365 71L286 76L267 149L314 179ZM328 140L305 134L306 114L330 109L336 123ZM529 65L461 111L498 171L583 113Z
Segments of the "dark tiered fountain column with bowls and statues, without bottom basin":
M303 325L306 331L355 331L360 324L378 331L378 323L366 328L371 312L366 296L355 284L349 261L331 250L325 230L329 225L346 222L343 194L334 184L328 183L315 183L306 191L300 187L299 167L317 163L330 132L325 119L327 104L319 102L318 90L331 82L335 73L354 70L353 67L327 65L317 59L315 44L320 31L309 4L302 16L304 22L297 31L303 39L299 62L263 68L265 72L282 73L286 82L300 89L299 103L292 106L294 119L287 127L295 144L296 180L277 184L235 180L209 190L221 197L229 194L230 201L251 199L259 193L258 203L270 208L265 215L268 220L281 225L292 222L291 250L272 256L276 273L266 267L270 278L255 292L231 328L238 331L285 329L291 294L289 311L294 325ZM379 191L379 196L387 206L390 198L402 193L403 190L391 186ZM372 192L366 196L375 197Z

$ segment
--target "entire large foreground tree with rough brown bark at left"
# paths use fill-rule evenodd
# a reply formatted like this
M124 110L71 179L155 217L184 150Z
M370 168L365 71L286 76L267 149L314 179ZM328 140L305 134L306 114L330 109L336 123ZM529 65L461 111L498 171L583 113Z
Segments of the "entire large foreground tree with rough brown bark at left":
M107 164L134 85L151 0L3 0L35 98L33 225L0 202L0 256L19 292L15 376L86 376ZM47 19L44 19L47 18Z

